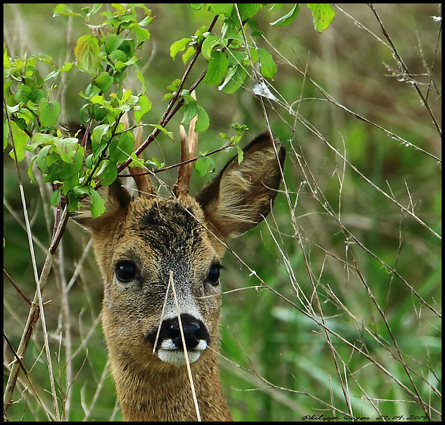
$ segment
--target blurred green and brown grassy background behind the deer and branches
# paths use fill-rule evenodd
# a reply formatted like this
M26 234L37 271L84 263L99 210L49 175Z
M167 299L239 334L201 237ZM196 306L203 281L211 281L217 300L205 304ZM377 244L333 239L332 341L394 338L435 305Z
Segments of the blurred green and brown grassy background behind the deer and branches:
M60 66L64 61L73 60L76 39L86 33L86 29L81 20L52 18L53 6L3 6L3 33L10 56L24 51L29 54L44 51L58 60ZM70 7L80 8L79 5ZM155 15L143 58L149 84L147 94L153 104L147 119L157 122L165 108L162 98L166 86L184 72L179 55L172 61L170 45L195 33L199 26L209 24L211 14L205 10L195 12L186 4L147 7ZM384 312L421 399L432 406L428 409L431 418L437 420L441 412L437 396L442 378L441 322L432 311L441 312L441 245L419 220L440 233L442 188L441 163L437 157L441 157L442 146L412 83L401 72L391 50L381 42L386 40L371 9L366 5L341 8L344 12L336 8L330 28L321 34L314 30L312 15L305 5L300 5L300 14L291 26L269 25L283 15L282 10L273 13L264 10L257 19L268 41L259 40L258 46L271 51L278 65L272 81L277 90L275 97L282 97L282 102L298 111L298 118L310 122L329 144L309 131L285 107L277 103L266 106L270 127L288 150L286 186L298 227L293 225L285 194L280 193L273 216L267 220L271 231L263 223L231 243L236 255L282 295L277 296L268 289L245 289L223 297L221 371L227 403L236 420L300 420L305 415L322 414L343 418L348 407L332 360L333 353L339 362L343 388L347 383L347 399L355 416L375 418L379 416L377 410L387 415L387 419L425 415L419 403L414 403L412 396L403 390L403 385L412 390L412 382L403 364L394 360L398 357L396 347L362 278ZM424 95L431 83L425 66L428 65L435 84L430 86L428 105L440 120L441 23L432 19L441 14L440 6L385 4L375 5L375 10ZM197 64L190 83L204 67L203 62ZM305 70L337 104L328 102L314 83L305 78L302 74ZM78 93L86 84L82 78L70 73L64 83L59 99L63 120L78 119L82 104ZM252 89L253 82L246 86ZM218 133L229 134L233 122L248 125L251 138L266 128L259 100L250 90L241 89L227 95L218 92L216 86L202 84L197 97L211 120L209 130L200 138L200 150L211 151L223 145ZM356 115L373 124L357 119ZM168 130L177 134L180 121L181 116L175 117ZM411 145L405 145L378 127ZM349 163L345 164L334 149ZM217 154L216 170L235 153ZM145 157L151 156L166 164L175 163L179 159L179 144L161 135L150 145ZM22 227L17 173L7 155L3 170L4 268L32 298L35 284L27 236ZM25 165L21 173L40 269L52 228L49 192L29 185ZM419 220L362 176L414 212ZM176 179L175 170L159 177L171 186ZM202 184L203 179L193 175L191 193ZM329 214L330 207L338 220ZM343 236L339 222L356 241L351 236ZM69 223L60 246L59 264L44 294L45 300L51 300L45 316L56 382L61 400L66 396L68 375L73 382L71 405L65 406L68 420L120 420L120 412L115 409L113 381L106 369L106 347L98 319L102 278L92 250L86 255L79 278L69 283L88 240L88 234ZM353 267L354 261L357 269ZM420 303L407 284L382 262L395 269L421 294L426 304ZM260 284L230 253L225 257L224 266L222 280L226 291ZM64 298L63 288L67 285L70 291L65 291ZM304 300L305 296L309 301ZM284 297L302 310L287 303ZM29 307L6 279L3 298L4 329L11 344L17 346ZM317 300L321 303L325 326L368 353L374 363L332 334L333 346L329 346L323 328L310 318L310 307L313 307L312 316L321 320ZM67 334L68 328L70 334ZM47 359L41 334L39 322L24 363L45 407L40 407L35 400L33 390L27 390L29 381L21 375L13 397L17 403L8 408L10 420L51 418ZM66 338L70 338L72 354L75 354L70 371L65 367ZM8 348L5 353L4 376L7 378L12 355ZM383 373L375 363L389 374ZM86 414L90 405L93 408ZM339 411L334 412L328 406Z

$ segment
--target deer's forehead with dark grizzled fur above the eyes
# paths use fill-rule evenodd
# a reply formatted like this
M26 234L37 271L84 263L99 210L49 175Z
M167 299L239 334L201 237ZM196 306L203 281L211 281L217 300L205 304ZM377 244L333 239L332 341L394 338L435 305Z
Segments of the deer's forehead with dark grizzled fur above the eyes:
M130 202L126 215L117 216L106 227L108 234L103 229L95 232L95 245L108 263L127 258L141 266L170 265L177 270L216 259L204 213L190 196L138 198Z

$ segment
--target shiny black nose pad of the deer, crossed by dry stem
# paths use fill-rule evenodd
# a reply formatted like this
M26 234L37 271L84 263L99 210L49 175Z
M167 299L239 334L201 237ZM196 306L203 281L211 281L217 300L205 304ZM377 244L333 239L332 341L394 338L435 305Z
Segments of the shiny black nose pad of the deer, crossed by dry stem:
M182 331L184 332L184 341L186 342L186 348L188 350L195 348L202 340L209 344L209 332L207 332L207 329L202 321L196 319L191 314L181 314L180 317ZM170 319L165 322L167 322L165 323L165 330L168 337L172 339L173 344L175 344L179 350L184 350L178 318L176 317L175 319Z

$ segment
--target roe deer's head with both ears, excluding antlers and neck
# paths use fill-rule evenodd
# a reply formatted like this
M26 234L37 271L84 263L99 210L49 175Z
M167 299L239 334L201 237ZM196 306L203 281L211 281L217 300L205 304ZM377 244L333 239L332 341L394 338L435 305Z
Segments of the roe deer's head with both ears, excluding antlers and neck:
M284 148L263 134L241 164L229 161L196 199L186 193L161 199L153 190L132 200L115 182L104 188L103 216L78 216L92 232L104 276L103 326L112 359L165 369L186 364L183 339L191 363L216 348L220 241L268 214L283 162Z

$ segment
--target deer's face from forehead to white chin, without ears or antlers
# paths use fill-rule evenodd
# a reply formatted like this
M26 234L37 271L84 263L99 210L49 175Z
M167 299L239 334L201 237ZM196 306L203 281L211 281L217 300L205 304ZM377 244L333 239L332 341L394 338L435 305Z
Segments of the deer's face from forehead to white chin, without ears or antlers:
M109 220L114 232L92 229L105 280L106 339L127 358L154 362L155 355L180 366L179 315L188 360L195 362L218 339L220 310L220 252L204 227L204 213L189 196L141 197L126 209Z

